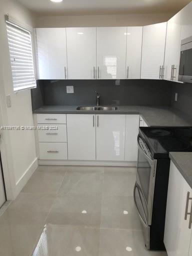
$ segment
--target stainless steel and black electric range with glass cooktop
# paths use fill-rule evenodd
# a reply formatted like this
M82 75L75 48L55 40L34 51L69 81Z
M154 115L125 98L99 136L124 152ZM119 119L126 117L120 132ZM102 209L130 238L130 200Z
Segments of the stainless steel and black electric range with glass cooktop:
M134 202L147 249L163 250L169 151L192 151L192 128L140 127Z

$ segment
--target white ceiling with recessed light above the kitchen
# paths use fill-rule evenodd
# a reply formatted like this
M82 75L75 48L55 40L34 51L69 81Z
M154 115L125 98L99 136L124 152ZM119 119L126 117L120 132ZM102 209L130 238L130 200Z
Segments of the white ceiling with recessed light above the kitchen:
M17 0L30 10L47 14L109 14L177 12L190 0Z

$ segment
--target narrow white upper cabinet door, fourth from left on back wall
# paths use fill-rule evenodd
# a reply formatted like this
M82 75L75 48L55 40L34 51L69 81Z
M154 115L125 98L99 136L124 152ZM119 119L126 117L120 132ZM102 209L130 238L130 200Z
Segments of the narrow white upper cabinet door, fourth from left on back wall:
M129 26L126 32L126 79L140 79L142 27Z

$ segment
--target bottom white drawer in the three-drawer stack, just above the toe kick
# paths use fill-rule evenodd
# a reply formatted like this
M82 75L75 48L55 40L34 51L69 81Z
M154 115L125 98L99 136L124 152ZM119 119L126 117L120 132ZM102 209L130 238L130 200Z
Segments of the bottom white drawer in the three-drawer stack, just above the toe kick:
M66 160L67 143L64 142L39 142L40 159Z

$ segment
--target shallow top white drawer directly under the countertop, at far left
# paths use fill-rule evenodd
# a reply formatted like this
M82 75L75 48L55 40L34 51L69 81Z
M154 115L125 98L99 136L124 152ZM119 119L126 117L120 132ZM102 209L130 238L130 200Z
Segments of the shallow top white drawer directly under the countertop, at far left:
M37 123L66 123L66 114L37 114Z

